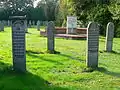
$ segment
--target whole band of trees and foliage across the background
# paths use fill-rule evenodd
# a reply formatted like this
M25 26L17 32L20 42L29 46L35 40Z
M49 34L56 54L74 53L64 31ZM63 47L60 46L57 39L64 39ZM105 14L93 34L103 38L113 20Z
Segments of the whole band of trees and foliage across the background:
M105 35L108 22L115 24L115 36L120 37L119 0L1 0L0 19L12 15L26 15L28 20L55 21L56 26L66 26L67 16L77 16L78 25L87 27L88 22L98 22L101 35Z

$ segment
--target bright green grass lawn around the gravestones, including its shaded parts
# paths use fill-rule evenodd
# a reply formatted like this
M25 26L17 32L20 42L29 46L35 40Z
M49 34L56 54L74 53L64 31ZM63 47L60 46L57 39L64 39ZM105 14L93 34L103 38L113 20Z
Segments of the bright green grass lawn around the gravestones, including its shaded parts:
M55 40L60 54L47 54L47 39L35 28L26 34L27 73L11 70L11 28L0 32L0 90L120 90L120 38L114 39L112 53L104 52L100 37L99 70L86 67L86 40Z

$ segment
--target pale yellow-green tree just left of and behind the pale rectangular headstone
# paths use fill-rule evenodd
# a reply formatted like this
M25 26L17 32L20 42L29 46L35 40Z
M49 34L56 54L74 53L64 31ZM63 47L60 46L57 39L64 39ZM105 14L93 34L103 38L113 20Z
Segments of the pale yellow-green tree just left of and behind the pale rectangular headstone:
M75 15L73 2L71 0L59 0L58 14L56 15L56 24L66 26L67 16Z

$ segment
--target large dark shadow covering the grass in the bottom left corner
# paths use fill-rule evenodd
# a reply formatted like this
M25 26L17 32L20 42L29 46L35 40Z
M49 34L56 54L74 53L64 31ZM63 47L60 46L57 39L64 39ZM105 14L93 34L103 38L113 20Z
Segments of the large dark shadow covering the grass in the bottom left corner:
M16 73L10 67L0 62L0 90L68 90L30 72Z

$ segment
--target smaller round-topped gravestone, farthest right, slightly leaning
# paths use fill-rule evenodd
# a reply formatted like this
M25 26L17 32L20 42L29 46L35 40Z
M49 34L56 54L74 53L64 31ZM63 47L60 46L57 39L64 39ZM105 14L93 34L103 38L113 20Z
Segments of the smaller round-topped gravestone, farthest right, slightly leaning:
M105 46L105 49L106 49L107 52L112 51L113 38L114 38L114 24L112 22L109 22L107 24L107 30L106 30L106 46Z

